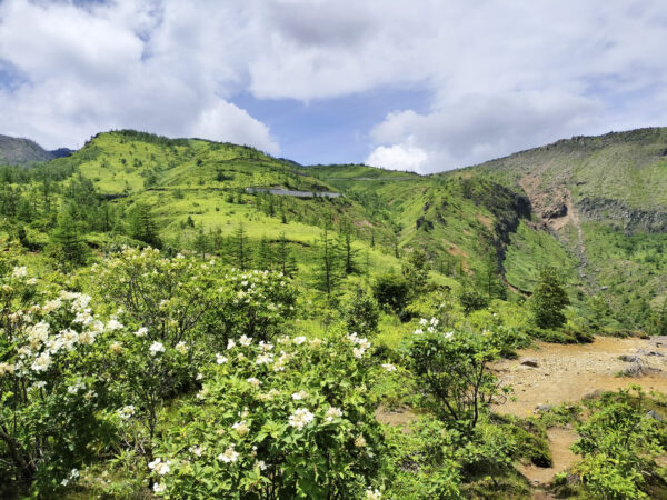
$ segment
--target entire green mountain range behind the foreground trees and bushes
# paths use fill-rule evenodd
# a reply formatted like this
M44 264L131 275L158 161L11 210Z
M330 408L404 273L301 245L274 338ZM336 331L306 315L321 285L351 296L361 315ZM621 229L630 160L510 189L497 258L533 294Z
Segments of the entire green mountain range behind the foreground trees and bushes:
M649 328L667 297L666 154L667 129L643 129L418 176L302 167L230 143L116 131L30 178L7 170L2 203L13 230L30 222L28 239L42 247L53 206L79 198L69 210L92 247L137 238L132 213L148 207L166 247L195 250L206 233L209 250L225 252L242 224L256 247L285 233L305 268L327 227L334 238L351 234L367 270L398 270L400 258L424 249L440 282L490 298L529 297L552 266L581 314Z

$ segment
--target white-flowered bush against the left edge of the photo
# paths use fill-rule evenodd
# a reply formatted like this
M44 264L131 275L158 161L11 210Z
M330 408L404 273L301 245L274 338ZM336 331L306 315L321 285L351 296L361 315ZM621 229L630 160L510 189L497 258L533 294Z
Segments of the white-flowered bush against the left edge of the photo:
M88 296L61 291L32 302L37 296L26 268L0 281L0 472L37 479L44 492L76 480L76 467L110 433L98 411L108 326L91 313Z

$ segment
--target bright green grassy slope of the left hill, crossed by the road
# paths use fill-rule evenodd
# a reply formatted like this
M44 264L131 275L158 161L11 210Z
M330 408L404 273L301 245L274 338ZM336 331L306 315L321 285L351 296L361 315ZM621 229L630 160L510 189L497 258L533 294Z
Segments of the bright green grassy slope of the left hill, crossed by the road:
M250 187L336 191L307 171L298 170L295 163L250 148L202 140L162 143L143 140L142 136L109 132L97 136L71 158L58 161L79 164L79 170L101 193L127 196L113 201L119 207L129 208L136 202L151 206L162 238L173 246L192 244L197 229L185 224L188 218L197 228L219 229L223 236L242 222L251 242L263 237L275 240L285 232L292 243L298 243L299 262L308 267L316 256L315 242L320 238L322 221L330 217L335 228L342 219L352 222L360 261L399 269L398 260L389 252L394 238L391 224L376 220L350 199L297 199L245 192ZM258 210L268 198L276 204L272 217ZM287 223L281 223L281 211ZM369 248L371 232L377 242L374 249Z

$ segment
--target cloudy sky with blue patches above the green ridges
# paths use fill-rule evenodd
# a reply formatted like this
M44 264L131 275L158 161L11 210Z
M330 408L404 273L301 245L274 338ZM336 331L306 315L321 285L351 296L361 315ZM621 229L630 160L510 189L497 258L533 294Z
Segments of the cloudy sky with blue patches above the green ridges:
M667 126L664 0L0 0L0 133L434 172Z

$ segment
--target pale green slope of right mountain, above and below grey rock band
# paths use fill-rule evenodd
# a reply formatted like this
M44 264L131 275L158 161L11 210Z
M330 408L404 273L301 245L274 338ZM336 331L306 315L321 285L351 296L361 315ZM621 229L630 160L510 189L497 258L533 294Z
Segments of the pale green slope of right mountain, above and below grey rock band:
M640 213L660 220L667 212L667 129L639 129L601 137L574 138L466 169L517 187L527 174L540 177L538 193L559 188L573 203L596 200L600 207L580 216L580 239L569 224L559 239L588 261L586 290L600 293L618 318L657 309L667 296L667 242L664 233L634 223ZM618 210L608 210L611 206ZM624 230L625 229L625 230Z

